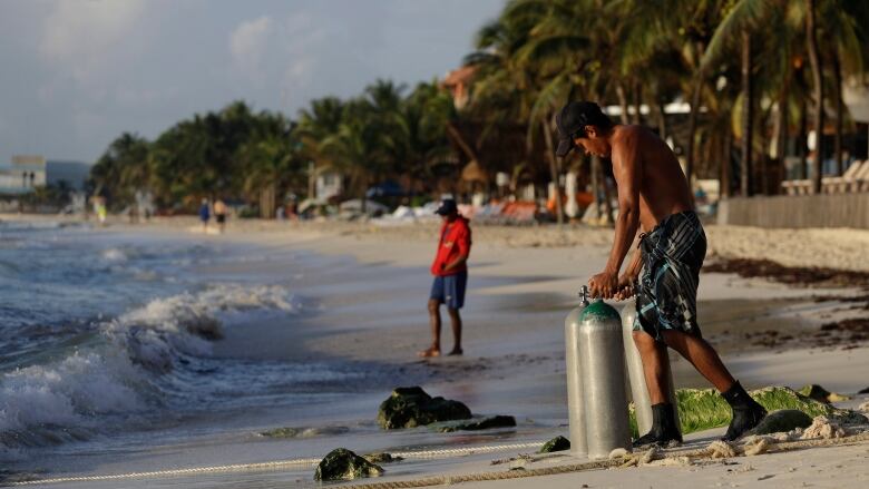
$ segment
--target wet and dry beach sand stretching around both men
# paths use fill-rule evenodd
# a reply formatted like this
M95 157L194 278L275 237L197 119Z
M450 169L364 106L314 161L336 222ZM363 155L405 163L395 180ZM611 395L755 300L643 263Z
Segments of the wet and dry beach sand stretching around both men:
M2 217L2 218L6 218ZM155 219L139 226L113 224L120 233L194 233L195 219ZM767 258L789 266L869 271L865 260L869 232L853 229L770 231L707 226L710 261ZM524 443L567 434L563 324L576 305L576 291L606 261L612 229L592 227L475 226L470 283L462 311L462 358L419 360L428 343L426 300L428 265L434 251L437 223L375 226L361 223L277 223L233 221L223 235L202 235L255 244L272 258L253 261L247 273L281 276L292 268L295 283L321 297L316 313L293 329L246 324L228 329L215 343L215 355L275 361L335 361L377 365L382 378L373 389L360 389L331 405L299 412L263 408L257 428L280 426L351 427L350 433L309 439L263 440L251 426L230 434L183 440L116 459L79 453L59 461L49 476L125 473L157 468L252 463L287 458L322 457L345 447L368 451L413 451L432 448ZM334 260L329 270L305 276L283 263L287 251L310 251ZM343 262L346 261L346 262ZM212 270L206 273L233 273ZM306 284L306 285L305 285ZM340 293L333 293L339 291ZM748 388L819 383L828 390L855 393L869 387L869 342L849 340L820 345L813 340L822 324L865 316L846 300L818 302L816 296L848 297L859 288L803 287L733 274L704 273L699 293L700 324L725 363ZM614 304L621 309L622 305ZM443 348L451 346L445 317ZM793 341L770 342L764 332ZM774 340L774 339L773 339ZM675 359L676 355L671 355ZM707 387L684 360L674 360L677 387ZM431 433L424 429L382 432L373 426L377 407L393 387L422 384L433 395L457 399L475 413L511 414L516 429L484 433ZM246 433L246 434L245 434ZM711 439L715 433L699 433ZM706 438L703 438L706 437ZM521 450L529 452L533 450ZM385 477L371 481L421 478L443 473L495 470L490 462L517 450L465 457L423 459L385 466ZM468 487L866 487L863 469L869 446L802 450L740 459L703 467L643 467L598 470L539 479L480 482ZM95 462L94 460L98 460ZM501 468L500 470L507 470ZM153 480L76 482L69 487L313 487L312 467L274 471L240 471ZM834 475L834 477L833 477ZM836 483L833 485L833 481Z

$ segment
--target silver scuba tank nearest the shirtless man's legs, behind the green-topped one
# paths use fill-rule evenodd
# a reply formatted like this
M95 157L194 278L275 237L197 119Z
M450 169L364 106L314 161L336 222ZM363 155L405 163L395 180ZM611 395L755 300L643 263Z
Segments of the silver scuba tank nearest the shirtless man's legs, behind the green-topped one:
M636 300L628 301L622 309L622 334L625 345L625 364L631 382L631 397L634 401L634 413L639 436L652 430L652 401L648 397L648 387L643 371L643 359L639 356L634 343L634 320L636 319ZM673 387L673 372L670 369L670 354L664 350L664 378L666 379L667 402L673 404L673 415L678 427L678 407L676 403L676 390Z

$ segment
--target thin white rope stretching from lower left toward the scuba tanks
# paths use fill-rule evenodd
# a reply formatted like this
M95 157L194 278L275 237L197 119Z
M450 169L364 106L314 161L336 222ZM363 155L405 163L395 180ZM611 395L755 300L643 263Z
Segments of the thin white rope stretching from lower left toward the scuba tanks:
M437 458L470 456L475 453L491 453L491 452L506 451L506 450L539 448L543 443L544 443L543 441L531 441L527 443L490 444L484 447L390 452L390 454L392 454L393 457L401 457L403 459L437 459ZM22 480L17 482L10 482L9 485L10 486L33 486L39 483L86 482L86 481L119 480L119 479L146 479L153 477L191 476L191 475L198 475L198 473L275 470L285 467L313 467L320 463L320 460L321 459L305 458L305 459L275 460L272 462L258 462L258 463L236 463L236 464L228 464L228 466L194 467L189 469L167 469L167 470L153 470L147 472L113 473L113 475L105 475L105 476L56 477L51 479Z

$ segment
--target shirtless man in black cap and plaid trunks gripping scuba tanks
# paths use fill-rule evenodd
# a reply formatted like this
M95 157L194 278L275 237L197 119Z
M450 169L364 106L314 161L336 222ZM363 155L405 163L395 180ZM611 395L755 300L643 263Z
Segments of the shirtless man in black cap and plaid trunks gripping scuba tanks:
M653 426L634 446L682 442L665 391L663 362L667 346L691 362L730 404L733 418L724 438L738 439L760 423L767 411L701 335L696 296L706 236L676 156L650 129L616 125L595 102L567 104L557 115L556 125L559 157L579 147L586 154L612 158L618 188L615 238L604 271L588 281L588 287L595 297L624 300L636 295L633 335L643 359ZM619 275L637 231L638 252Z

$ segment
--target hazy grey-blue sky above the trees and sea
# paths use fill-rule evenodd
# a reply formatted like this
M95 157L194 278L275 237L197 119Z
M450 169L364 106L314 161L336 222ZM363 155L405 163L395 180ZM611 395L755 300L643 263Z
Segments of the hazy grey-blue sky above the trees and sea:
M504 0L0 0L0 166L95 162L243 99L295 117L378 78L412 87L472 50Z

